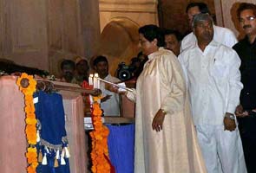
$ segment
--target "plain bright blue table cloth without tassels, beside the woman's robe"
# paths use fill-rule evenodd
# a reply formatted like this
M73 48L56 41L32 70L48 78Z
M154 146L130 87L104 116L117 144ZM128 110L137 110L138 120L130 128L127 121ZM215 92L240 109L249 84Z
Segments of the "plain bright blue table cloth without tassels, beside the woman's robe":
M116 173L133 173L135 162L135 125L107 125L108 152Z

